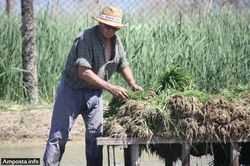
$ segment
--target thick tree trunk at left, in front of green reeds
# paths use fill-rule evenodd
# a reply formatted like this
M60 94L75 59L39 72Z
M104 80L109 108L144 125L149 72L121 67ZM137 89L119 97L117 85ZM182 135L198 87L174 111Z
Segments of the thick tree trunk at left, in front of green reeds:
M24 95L29 102L38 102L38 80L33 0L22 0L22 62Z

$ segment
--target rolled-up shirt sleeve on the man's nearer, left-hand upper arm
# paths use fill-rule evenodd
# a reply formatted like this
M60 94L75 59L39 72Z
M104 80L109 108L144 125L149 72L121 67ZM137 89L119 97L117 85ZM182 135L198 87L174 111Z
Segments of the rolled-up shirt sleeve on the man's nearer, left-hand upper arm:
M76 54L77 65L92 68L93 57L90 52L89 43L85 37L81 37L78 39Z

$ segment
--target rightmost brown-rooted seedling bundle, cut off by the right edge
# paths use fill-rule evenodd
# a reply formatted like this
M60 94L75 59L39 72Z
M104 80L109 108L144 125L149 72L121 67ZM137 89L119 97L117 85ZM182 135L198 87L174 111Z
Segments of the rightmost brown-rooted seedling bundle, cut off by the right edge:
M223 98L214 99L204 106L206 111L206 124L213 124L218 139L249 137L250 114L246 106L238 101L226 101ZM205 124L205 125L206 125ZM207 133L208 134L208 133ZM213 136L212 135L212 136Z

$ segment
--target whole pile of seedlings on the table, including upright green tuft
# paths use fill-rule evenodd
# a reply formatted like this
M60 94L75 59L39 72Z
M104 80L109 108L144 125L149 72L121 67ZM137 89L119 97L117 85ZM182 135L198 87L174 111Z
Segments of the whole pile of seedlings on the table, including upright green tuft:
M183 74L184 73L184 74ZM104 134L137 137L226 140L250 137L250 92L208 95L192 90L191 77L179 68L166 71L155 90L112 99Z

